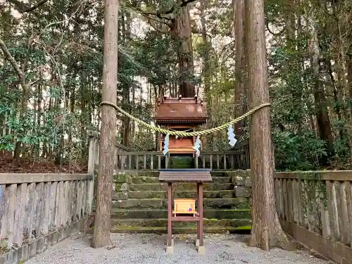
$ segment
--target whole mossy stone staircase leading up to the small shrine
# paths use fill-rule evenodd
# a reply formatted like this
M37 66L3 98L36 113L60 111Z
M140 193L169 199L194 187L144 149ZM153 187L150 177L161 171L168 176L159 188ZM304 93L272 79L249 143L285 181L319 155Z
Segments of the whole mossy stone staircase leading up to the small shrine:
M114 176L111 232L165 233L166 184L159 172L126 172ZM211 172L213 182L203 184L204 231L243 232L251 228L251 182L246 171ZM196 184L174 184L172 199L196 198ZM172 232L195 233L196 222L174 222Z

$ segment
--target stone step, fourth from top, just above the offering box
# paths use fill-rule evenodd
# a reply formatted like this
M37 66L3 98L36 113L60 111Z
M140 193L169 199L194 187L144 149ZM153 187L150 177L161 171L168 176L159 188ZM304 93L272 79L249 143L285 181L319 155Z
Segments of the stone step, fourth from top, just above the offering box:
M196 198L196 191L173 191L173 198ZM234 198L234 191L225 190L225 191L203 191L204 198ZM167 191L118 191L113 195L113 200L122 200L122 199L167 199Z

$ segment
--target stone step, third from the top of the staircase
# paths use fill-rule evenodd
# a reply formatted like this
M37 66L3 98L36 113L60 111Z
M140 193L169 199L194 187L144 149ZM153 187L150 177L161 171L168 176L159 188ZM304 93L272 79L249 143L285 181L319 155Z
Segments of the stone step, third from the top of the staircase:
M143 183L143 184L127 184L116 183L115 191L166 191L168 184L166 183ZM205 183L204 191L221 191L234 189L232 183ZM196 191L194 183L175 183L172 184L172 191Z

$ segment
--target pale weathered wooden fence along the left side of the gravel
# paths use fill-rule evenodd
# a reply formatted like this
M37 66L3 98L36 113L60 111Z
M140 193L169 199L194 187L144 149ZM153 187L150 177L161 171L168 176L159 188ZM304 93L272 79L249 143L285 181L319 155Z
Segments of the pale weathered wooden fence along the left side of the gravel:
M23 263L81 230L93 189L92 174L0 173L0 263Z

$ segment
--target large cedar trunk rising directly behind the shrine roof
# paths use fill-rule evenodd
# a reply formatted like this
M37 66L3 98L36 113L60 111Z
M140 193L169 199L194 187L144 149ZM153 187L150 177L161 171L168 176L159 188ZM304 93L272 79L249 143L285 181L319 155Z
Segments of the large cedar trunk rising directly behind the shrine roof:
M180 70L180 89L182 97L193 97L195 95L194 82L189 80L193 76L193 47L191 38L189 6L182 8L182 15L177 15L174 21L174 27L171 31L176 41L180 43L177 49L177 58Z

